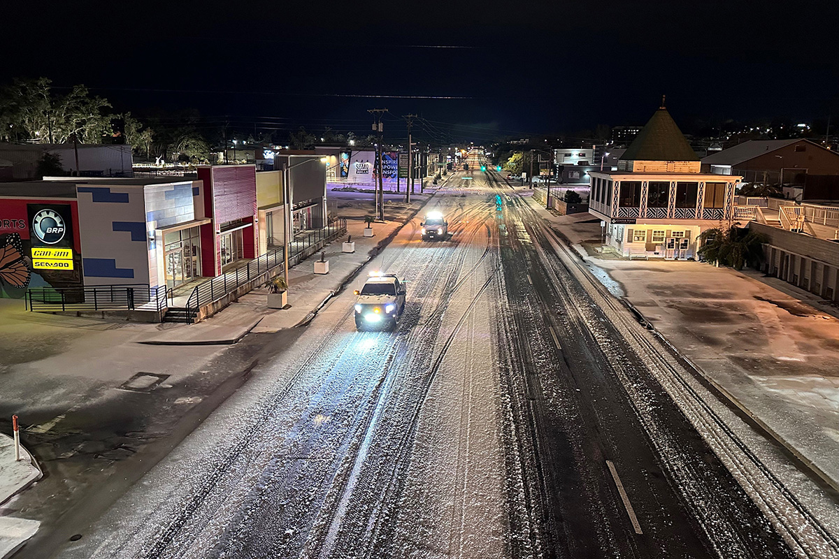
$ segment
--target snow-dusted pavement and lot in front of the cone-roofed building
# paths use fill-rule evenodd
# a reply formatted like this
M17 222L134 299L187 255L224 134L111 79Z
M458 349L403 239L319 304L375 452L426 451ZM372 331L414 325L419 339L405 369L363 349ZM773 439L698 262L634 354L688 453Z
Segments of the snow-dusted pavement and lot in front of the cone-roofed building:
M535 204L534 204L535 205ZM625 298L701 375L839 489L836 308L759 272L593 251L593 215L539 214L613 295Z

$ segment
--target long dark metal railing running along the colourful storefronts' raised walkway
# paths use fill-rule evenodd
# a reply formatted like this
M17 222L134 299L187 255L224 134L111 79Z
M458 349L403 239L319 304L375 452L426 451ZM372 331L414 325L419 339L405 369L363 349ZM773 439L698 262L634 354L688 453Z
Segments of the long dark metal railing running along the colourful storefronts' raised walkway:
M289 246L289 258L299 255L313 244L320 241L331 241L347 230L347 219L338 218L331 221L326 227L312 231L303 239L291 241ZM206 304L213 303L223 298L227 293L235 291L245 283L251 282L269 272L272 268L281 266L284 263L284 246L279 246L273 251L254 258L247 266L237 267L235 270L225 272L221 276L212 278L209 282L201 282L195 286L186 300L186 321L192 323L198 315L199 310Z

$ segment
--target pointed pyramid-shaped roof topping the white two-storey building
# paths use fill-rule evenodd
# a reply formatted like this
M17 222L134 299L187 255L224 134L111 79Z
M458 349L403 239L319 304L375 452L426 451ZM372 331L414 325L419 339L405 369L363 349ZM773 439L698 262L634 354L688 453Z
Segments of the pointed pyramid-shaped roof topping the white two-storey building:
M660 107L621 156L622 161L699 161L693 148L673 121L667 109Z

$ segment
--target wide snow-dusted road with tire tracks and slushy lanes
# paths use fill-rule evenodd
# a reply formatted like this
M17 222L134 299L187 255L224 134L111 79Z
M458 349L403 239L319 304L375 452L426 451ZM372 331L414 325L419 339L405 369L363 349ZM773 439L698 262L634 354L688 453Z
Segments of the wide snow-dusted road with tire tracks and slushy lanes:
M396 332L342 293L59 555L793 556L527 205L448 187L370 264Z

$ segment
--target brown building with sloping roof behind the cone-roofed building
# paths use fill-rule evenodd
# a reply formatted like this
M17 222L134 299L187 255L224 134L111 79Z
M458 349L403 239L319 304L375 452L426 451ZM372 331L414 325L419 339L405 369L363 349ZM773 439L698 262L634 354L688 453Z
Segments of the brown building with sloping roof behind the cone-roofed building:
M750 140L702 158L702 171L747 183L803 186L808 175L839 175L839 153L801 138Z

